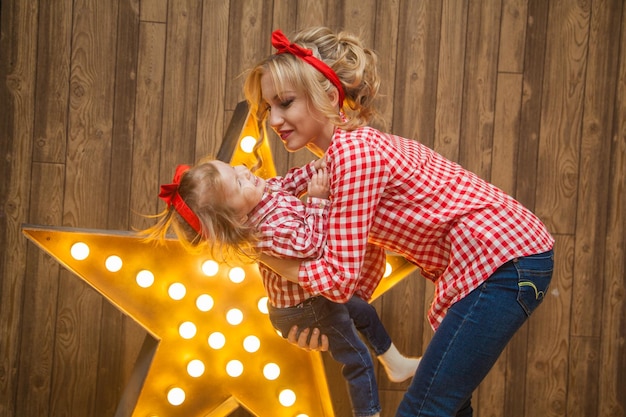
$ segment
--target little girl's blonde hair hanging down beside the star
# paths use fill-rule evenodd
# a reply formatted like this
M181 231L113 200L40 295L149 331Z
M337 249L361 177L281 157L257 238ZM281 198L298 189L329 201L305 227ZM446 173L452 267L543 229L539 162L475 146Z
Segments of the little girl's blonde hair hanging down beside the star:
M178 186L181 198L200 220L202 234L196 232L173 206L153 216L158 219L157 223L141 234L147 239L163 241L173 231L189 251L208 249L214 259L223 262L255 260L256 228L246 225L245 219L228 206L222 177L212 161L205 158L198 162L182 174Z

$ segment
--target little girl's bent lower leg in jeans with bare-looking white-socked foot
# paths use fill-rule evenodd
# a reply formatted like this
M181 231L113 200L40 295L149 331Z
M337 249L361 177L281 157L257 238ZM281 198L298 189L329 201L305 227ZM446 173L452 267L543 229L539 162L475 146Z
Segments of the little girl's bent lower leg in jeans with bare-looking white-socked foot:
M398 351L371 304L355 295L346 303L346 308L354 326L376 353L390 381L402 382L415 375L420 358L406 357Z

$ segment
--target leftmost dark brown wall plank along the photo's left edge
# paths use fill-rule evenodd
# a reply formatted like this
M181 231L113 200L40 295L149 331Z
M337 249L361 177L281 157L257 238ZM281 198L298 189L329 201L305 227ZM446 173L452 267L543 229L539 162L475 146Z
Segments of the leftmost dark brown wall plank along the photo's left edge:
M37 8L3 4L0 15L0 415L11 415L20 360L26 242L20 223L28 217L35 108Z

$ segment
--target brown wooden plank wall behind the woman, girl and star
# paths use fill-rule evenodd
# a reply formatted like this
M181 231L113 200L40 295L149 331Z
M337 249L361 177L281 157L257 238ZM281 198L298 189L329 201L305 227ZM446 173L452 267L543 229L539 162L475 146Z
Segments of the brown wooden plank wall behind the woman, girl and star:
M0 417L112 416L145 334L20 225L146 226L175 164L216 153L271 31L318 24L378 51L392 132L556 237L549 297L475 416L626 415L623 0L3 0L0 18ZM279 172L311 159L273 152ZM431 295L414 275L376 301L408 354ZM406 385L379 377L392 416Z

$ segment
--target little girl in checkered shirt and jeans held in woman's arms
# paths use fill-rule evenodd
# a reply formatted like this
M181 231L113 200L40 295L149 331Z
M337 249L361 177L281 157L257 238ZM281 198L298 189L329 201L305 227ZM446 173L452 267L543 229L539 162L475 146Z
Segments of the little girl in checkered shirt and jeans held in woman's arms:
M265 181L244 166L203 160L193 168L179 166L174 183L161 187L167 203L159 222L147 234L163 238L170 227L188 245L209 246L214 257L256 260L258 253L291 259L317 259L326 238L328 175L322 162L312 164L307 203L296 197L290 171ZM384 255L384 254L383 254ZM380 279L384 256L369 258L368 273ZM356 291L345 304L311 296L297 284L260 265L269 297L269 317L287 335L292 326L317 327L329 338L330 353L343 364L355 416L378 416L380 404L374 366L361 332L383 364L389 379L410 378L419 359L398 352L376 310ZM355 330L356 328L356 330Z

